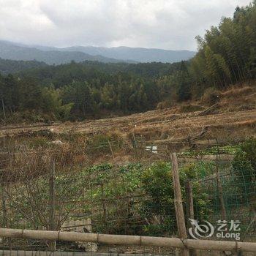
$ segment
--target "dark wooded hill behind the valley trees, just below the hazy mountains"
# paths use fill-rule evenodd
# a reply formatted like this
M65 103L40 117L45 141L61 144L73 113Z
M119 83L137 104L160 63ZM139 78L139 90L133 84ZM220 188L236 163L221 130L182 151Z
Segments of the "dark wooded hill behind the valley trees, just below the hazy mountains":
M124 80L129 78L151 80L172 74L180 65L180 63L164 64L161 62L127 64L102 63L99 61L76 63L72 61L69 64L26 69L18 72L16 76L36 78L38 83L42 85L47 86L50 82L56 88L59 88L73 80L89 83L94 83L94 80L100 80L101 83L116 83L118 77Z

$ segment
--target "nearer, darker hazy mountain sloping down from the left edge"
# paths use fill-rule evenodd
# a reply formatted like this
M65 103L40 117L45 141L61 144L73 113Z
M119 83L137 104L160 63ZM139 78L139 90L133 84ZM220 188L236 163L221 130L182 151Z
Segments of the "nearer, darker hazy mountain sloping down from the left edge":
M47 48L45 48L47 49ZM52 49L52 50L50 50ZM53 50L56 49L56 50ZM39 48L18 45L12 42L0 41L0 58L16 61L43 61L46 64L64 64L70 61L101 61L101 62L119 62L121 60L111 59L104 56L91 56L88 53L79 51L63 51L58 48L49 48L49 50L40 50Z

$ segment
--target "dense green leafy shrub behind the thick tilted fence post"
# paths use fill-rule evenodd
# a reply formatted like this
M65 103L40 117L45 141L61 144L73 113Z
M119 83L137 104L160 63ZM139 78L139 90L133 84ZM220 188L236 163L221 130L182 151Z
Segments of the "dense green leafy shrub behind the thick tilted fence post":
M200 184L195 180L208 173L203 170L203 165L188 165L179 170L181 192L185 198L185 184L189 179L193 182L194 203L197 208L197 217L205 218L209 213L206 193L200 189ZM162 235L163 233L176 233L176 214L174 207L174 192L171 166L168 162L157 162L147 167L141 177L141 188L148 200L141 206L141 214L148 220L144 232L148 235Z

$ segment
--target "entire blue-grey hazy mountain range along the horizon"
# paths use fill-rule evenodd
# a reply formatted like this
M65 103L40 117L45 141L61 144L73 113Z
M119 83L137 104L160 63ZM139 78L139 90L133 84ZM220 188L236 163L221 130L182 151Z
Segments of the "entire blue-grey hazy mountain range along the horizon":
M189 50L162 50L155 48L72 46L67 48L41 45L23 45L0 41L0 58L43 61L46 64L64 64L70 61L100 62L178 62L191 59L195 52Z

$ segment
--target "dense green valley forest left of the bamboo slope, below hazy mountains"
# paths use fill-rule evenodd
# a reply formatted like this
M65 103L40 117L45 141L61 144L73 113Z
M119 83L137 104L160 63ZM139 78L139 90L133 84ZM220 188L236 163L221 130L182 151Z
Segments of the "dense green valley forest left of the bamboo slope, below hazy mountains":
M83 119L156 108L180 64L103 64L97 61L28 69L1 76L5 116ZM2 108L3 109L3 108ZM4 116L4 113L2 113Z

